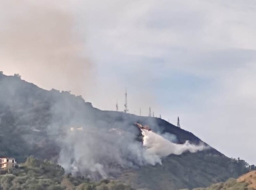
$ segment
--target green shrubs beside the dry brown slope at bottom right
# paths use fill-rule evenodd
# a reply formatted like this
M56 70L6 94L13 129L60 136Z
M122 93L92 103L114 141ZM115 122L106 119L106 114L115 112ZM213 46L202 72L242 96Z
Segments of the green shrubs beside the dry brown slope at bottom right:
M182 189L189 190L189 189ZM249 183L237 182L236 179L230 178L226 182L216 183L207 188L195 188L192 190L255 190L249 187Z

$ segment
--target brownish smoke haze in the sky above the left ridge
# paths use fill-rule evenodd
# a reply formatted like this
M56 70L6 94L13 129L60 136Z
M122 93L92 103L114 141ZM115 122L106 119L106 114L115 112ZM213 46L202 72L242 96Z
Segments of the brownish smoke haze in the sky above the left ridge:
M85 94L94 76L71 1L0 0L0 70L59 90ZM51 84L51 85L49 85Z

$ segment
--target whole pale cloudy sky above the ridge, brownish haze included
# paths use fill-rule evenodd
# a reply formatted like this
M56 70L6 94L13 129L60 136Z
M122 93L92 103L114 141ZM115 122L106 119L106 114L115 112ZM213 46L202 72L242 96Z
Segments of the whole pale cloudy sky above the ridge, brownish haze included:
M0 0L0 70L155 115L256 164L253 0Z

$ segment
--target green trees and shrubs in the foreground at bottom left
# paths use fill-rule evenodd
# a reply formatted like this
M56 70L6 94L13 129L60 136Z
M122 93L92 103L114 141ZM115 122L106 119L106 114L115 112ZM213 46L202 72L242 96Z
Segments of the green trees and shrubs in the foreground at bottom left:
M92 182L84 177L73 177L64 169L48 160L33 156L20 168L0 170L0 190L134 190L120 181Z

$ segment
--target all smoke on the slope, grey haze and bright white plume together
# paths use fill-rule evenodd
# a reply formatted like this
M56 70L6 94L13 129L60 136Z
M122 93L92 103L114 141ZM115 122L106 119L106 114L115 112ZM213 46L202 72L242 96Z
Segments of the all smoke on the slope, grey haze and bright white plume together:
M136 140L136 134L116 128L69 131L62 142L59 164L67 172L100 179L115 177L123 168L161 164L162 158L170 154L180 155L185 151L207 148L189 142L175 144L160 134L145 129L141 131L143 144Z

